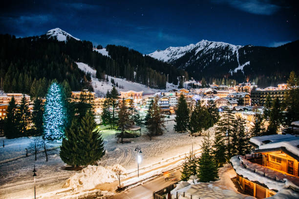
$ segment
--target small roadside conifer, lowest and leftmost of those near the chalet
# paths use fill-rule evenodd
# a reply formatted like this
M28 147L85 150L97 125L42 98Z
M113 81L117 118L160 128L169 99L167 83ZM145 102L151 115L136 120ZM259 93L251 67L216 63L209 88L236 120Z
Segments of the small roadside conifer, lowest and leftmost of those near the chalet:
M183 163L183 171L181 171L181 180L187 181L190 176L196 175L198 159L190 152L189 156L186 156Z

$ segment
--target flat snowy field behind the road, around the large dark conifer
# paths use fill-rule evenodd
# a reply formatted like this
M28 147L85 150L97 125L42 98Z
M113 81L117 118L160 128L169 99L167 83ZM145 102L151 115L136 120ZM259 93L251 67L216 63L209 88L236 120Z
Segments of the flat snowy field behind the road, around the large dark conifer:
M160 165L167 164L169 158L173 157L173 160L175 160L180 154L181 158L184 158L184 153L188 154L192 150L192 137L189 137L188 133L179 134L174 132L173 125L174 121L168 121L164 135L154 137L152 140L149 140L149 137L146 135L146 129L143 127L141 137L128 139L131 143L124 144L116 143L117 139L111 130L103 130L106 155L99 161L99 165L107 167L121 164L128 173L133 172L136 175L137 161L134 149L137 145L140 145L142 149L142 162L139 165L140 172L145 172L146 169L142 170L144 167L149 168L149 166L155 163ZM213 127L208 131L214 136ZM0 148L2 161L24 155L24 149L30 142L28 138L2 138L1 140L4 140L5 143L5 147ZM194 151L200 148L201 141L202 137L193 138ZM29 156L1 163L0 198L23 198L24 194L32 194L32 170L34 164L36 165L38 175L36 177L38 193L61 189L70 176L74 173L80 173L63 169L66 165L59 157L59 148L51 151L49 161L47 162L44 154L40 153L37 161L34 161L34 156ZM127 183L131 181L129 180ZM105 181L99 180L93 183L101 182Z

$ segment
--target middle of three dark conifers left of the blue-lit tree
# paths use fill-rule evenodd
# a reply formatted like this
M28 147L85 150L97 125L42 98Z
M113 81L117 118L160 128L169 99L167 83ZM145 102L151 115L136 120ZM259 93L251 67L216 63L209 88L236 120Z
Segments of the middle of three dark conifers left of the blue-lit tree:
M21 100L20 107L17 111L17 119L20 121L19 131L21 133L21 137L27 136L27 127L30 123L30 111L28 106L28 101L23 94L23 98Z

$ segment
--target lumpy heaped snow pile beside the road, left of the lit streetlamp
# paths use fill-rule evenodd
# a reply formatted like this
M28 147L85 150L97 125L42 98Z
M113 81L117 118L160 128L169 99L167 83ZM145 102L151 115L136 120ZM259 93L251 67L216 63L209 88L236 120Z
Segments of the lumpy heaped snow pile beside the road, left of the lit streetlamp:
M117 176L113 172L116 167L122 169L124 173L126 172L126 169L119 164L107 167L88 165L80 173L75 173L67 179L64 187L71 187L74 190L88 190L94 188L97 184L111 183L117 180Z

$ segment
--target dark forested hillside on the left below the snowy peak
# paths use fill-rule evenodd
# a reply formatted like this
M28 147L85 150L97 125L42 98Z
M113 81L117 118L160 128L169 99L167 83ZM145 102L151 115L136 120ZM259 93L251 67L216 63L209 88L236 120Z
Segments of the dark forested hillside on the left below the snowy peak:
M79 70L75 61L92 66L97 70L96 77L102 80L108 74L152 88L165 88L169 74L169 82L177 84L179 71L169 63L123 46L108 45L110 57L93 51L92 47L90 41L71 37L59 41L47 35L27 38L0 35L2 88L5 92L26 94L34 90L43 96L49 82L56 79L66 80L72 90L92 90L90 75Z

